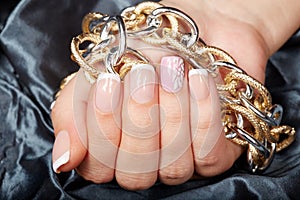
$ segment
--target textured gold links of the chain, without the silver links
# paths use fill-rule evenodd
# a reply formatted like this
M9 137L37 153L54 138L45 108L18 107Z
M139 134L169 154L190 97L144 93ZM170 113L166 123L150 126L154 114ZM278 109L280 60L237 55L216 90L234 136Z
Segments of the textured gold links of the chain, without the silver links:
M135 7L126 8L121 13L121 16L128 34L134 34L147 28L147 19L149 15L151 15L153 10L162 6L163 5L159 3L144 2ZM95 56L92 54L92 58L87 61L86 58L83 57L85 51L80 50L79 47L86 41L91 42L94 46L103 42L99 33L102 26L105 24L105 20L103 20L105 17L108 16L101 13L90 13L86 15L82 22L83 34L75 37L71 43L73 60L95 78L97 78L99 72L92 67L92 65L96 61L103 61L109 48L101 49ZM220 96L223 97L221 107L224 113L222 120L225 134L230 134L233 131L233 127L238 126L238 121L242 120L242 127L238 128L253 137L260 144L263 144L264 147L271 152L270 155L273 151L273 144L276 144L276 151L280 151L294 141L296 133L294 128L286 125L274 126L258 116L256 112L260 112L262 115L269 117L269 112L272 110L273 106L271 95L260 82L247 75L242 70L239 70L240 68L237 67L237 63L232 56L222 49L207 46L200 40L188 48L187 45L181 42L182 38L186 37L186 34L179 31L179 23L181 23L181 21L178 20L174 14L171 15L166 13L163 16L157 17L155 20L157 20L157 23L160 23L160 27L157 28L153 34L142 36L139 39L151 45L164 45L170 47L172 50L179 52L180 55L185 56L185 58L193 59L210 73L221 74L223 83L218 84L217 89ZM98 24L96 23L96 25L91 27L95 22L98 22ZM117 32L118 27L115 23L111 27L111 34L116 35ZM235 67L227 69L227 72L223 72L221 70L222 66L216 64L217 61L227 62ZM126 73L131 69L132 65L139 63L145 63L145 61L138 57L133 58L132 56L126 56L125 54L121 57L117 65L114 66L114 69L123 79ZM245 97L246 100L243 100L243 92L246 91L247 88L251 88L253 93L250 97ZM244 105L244 101L247 101L247 103L253 106L253 109L257 111ZM238 119L237 116L242 116L242 119ZM278 116L271 117L277 118ZM239 124L239 126L241 126L241 124ZM251 142L245 140L245 138L239 137L237 134L230 139L239 145L248 146L248 154L251 155L251 162L255 165L255 169L264 168L265 165L267 165L266 163L269 162L270 159L265 158L264 155L262 155Z

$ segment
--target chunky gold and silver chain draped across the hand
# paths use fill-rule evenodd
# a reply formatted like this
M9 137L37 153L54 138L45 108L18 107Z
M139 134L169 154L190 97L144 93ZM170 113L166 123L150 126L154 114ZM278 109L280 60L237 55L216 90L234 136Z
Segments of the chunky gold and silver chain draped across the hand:
M84 33L72 40L72 58L91 80L103 72L93 67L96 62L104 62L106 72L118 73L122 79L132 65L149 62L142 53L126 45L127 37L141 39L174 50L193 68L204 68L213 76L221 75L223 83L217 89L224 132L228 139L248 147L248 163L253 172L265 169L275 151L294 141L294 128L279 125L282 108L272 105L268 90L239 68L224 50L207 46L198 39L198 28L186 14L159 3L144 2L126 8L120 16L90 13L82 22ZM182 32L179 24L190 30ZM91 44L80 49L84 42Z

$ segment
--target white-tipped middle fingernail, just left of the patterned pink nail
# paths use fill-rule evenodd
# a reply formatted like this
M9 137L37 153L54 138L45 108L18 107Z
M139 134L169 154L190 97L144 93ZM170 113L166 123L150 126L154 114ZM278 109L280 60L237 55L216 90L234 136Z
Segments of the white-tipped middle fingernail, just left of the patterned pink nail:
M149 64L137 64L130 70L130 94L137 103L144 104L154 97L155 71Z

